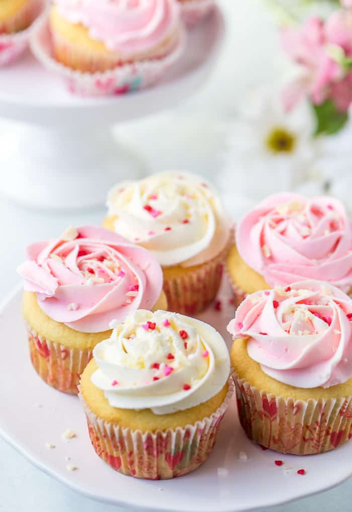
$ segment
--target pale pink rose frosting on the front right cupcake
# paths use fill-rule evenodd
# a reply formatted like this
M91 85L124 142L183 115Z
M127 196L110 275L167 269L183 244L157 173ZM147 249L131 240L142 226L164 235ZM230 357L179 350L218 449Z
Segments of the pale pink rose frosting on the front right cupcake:
M352 377L352 301L320 281L249 295L229 323L248 355L280 382L328 388Z

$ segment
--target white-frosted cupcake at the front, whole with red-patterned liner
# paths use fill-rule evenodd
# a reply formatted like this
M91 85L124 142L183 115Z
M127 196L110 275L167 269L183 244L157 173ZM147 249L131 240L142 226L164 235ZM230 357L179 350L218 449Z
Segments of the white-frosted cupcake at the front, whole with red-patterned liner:
M206 461L233 392L228 350L215 329L178 313L139 310L93 355L80 398L100 458L152 480Z

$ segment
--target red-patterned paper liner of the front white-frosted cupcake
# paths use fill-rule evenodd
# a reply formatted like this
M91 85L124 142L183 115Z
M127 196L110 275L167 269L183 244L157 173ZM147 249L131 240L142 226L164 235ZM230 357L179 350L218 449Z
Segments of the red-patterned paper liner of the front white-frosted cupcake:
M224 402L209 418L185 428L156 433L142 433L108 423L87 407L81 394L79 398L92 445L101 459L123 475L166 480L186 475L208 459L233 391L230 379Z

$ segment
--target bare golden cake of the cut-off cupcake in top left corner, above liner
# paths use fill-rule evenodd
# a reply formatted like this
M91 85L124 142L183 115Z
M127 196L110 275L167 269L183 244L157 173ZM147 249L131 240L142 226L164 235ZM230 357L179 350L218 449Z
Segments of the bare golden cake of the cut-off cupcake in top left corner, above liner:
M39 0L2 0L0 2L0 34L12 34L28 28L37 17Z

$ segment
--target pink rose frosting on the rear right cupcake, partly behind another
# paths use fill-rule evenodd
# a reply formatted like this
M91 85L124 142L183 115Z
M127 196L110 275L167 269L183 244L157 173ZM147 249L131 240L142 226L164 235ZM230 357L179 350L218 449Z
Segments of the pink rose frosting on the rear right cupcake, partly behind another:
M236 245L269 286L302 279L328 281L345 292L352 286L351 223L332 197L270 196L238 224Z

